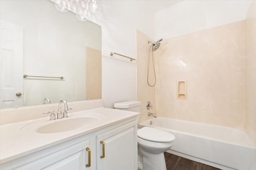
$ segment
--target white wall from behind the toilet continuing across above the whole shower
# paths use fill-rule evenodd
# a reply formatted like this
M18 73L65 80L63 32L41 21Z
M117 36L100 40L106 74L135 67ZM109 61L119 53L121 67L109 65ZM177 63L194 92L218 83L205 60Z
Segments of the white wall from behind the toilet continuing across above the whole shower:
M136 29L155 40L169 38L244 20L248 8L243 0L100 2L101 13L92 16L92 21L102 26L102 54L108 57L109 51L114 51L136 58ZM102 60L102 99L105 107L113 107L114 102L136 100L135 67L132 63L120 62L107 58Z

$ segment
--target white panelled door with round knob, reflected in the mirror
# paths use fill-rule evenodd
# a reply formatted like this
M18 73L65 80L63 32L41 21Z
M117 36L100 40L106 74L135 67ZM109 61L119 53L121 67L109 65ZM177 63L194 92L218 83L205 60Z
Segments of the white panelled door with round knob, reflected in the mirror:
M0 30L0 108L23 106L23 29L1 20Z

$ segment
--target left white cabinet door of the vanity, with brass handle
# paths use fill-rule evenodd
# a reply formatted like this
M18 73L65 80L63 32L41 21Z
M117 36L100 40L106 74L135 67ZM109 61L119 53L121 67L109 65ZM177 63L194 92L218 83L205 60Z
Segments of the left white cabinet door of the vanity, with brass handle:
M90 163L88 162L88 157L90 157L89 146L90 140L88 139L36 160L30 164L26 164L18 169L90 170L90 166L86 167L86 165ZM58 145L54 147L58 147Z

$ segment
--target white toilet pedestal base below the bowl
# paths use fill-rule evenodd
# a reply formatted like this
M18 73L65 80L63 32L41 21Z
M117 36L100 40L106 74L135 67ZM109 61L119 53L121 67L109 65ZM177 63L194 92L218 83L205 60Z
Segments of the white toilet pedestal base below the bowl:
M143 154L142 170L166 170L164 153L151 154L140 150Z

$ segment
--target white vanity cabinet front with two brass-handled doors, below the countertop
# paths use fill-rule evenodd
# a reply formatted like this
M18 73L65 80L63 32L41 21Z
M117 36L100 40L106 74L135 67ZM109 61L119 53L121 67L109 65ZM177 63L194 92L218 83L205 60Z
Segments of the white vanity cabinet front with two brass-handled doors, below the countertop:
M137 119L132 117L69 138L0 164L0 169L137 170Z

